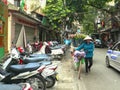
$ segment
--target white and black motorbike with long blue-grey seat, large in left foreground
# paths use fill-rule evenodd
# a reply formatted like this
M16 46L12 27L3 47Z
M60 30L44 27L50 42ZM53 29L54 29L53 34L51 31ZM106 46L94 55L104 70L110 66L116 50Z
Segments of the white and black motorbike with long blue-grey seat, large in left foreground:
M40 66L39 63L13 65L15 56L17 55L12 55L3 64L3 68L0 67L0 81L6 84L28 82L34 90L45 90L45 81L39 76L39 73L43 71L45 66Z

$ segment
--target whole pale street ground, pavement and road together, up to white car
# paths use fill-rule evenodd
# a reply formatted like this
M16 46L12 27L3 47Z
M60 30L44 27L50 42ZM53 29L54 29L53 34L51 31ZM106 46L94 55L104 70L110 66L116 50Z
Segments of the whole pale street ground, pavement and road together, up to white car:
M120 73L105 65L107 49L95 48L91 72L85 73L82 65L81 79L73 68L70 52L58 64L59 81L47 90L120 90Z

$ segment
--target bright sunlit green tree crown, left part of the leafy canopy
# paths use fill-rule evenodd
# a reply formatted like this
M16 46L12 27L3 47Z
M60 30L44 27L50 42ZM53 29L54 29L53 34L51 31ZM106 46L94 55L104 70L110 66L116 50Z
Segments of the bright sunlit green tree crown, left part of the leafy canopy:
M53 29L60 30L61 25L65 24L66 17L70 10L65 8L62 0L47 0L47 6L44 10L49 24Z

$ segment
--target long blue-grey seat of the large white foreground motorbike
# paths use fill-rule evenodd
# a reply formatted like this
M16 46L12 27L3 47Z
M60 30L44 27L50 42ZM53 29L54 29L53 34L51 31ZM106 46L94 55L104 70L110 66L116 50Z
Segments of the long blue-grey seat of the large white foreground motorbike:
M41 64L39 63L28 63L28 64L22 64L22 65L11 65L10 70L21 73L26 71L33 71L40 67Z

